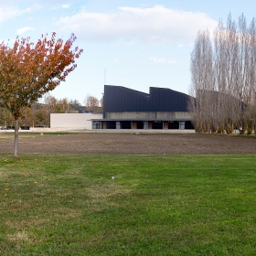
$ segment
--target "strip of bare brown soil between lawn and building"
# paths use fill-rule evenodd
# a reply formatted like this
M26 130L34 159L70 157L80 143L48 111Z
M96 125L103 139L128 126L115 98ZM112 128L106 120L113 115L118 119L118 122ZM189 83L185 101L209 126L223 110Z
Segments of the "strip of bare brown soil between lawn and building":
M231 155L256 154L256 140L196 133L69 133L23 138L19 153ZM0 152L13 152L13 141L1 141Z

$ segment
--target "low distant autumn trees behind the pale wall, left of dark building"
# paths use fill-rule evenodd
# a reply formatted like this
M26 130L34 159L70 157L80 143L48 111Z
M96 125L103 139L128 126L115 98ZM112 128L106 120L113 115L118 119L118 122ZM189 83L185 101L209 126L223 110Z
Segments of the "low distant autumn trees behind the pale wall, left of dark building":
M33 102L22 112L19 119L19 126L24 127L49 127L50 113L72 113L82 111L101 112L102 99L87 95L84 106L78 100L56 99L46 94L42 102ZM14 128L15 120L13 115L5 108L0 108L0 127L2 129Z

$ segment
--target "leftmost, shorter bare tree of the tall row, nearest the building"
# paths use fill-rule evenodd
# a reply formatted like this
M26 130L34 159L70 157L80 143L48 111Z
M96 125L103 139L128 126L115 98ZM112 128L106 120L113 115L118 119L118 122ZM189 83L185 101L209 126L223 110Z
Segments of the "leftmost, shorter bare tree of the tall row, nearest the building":
M208 132L214 123L213 110L208 104L210 91L214 91L212 46L208 31L199 31L195 47L191 53L191 96L188 108L193 115L197 133Z

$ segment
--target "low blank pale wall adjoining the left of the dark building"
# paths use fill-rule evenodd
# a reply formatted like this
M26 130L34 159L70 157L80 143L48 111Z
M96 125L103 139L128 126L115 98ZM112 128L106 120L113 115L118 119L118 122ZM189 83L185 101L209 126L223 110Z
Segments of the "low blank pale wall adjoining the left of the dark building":
M102 113L51 113L50 128L92 129L91 119L102 119Z

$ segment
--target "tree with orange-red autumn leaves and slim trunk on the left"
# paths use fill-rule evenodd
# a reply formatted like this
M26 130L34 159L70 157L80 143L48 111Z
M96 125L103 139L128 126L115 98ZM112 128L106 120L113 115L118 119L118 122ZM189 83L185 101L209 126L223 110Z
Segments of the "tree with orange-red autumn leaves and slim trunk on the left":
M17 157L18 120L25 108L48 91L65 81L76 68L75 59L82 52L72 48L76 37L72 34L64 42L52 33L37 43L30 38L16 38L13 47L0 44L0 106L12 113L15 119L14 156Z

